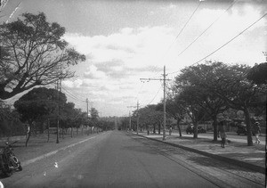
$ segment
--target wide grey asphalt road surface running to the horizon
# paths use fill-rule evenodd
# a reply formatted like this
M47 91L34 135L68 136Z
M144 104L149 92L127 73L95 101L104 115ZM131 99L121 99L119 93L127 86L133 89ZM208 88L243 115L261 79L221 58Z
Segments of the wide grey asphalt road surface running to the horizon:
M194 163L192 158L199 161ZM4 187L263 187L216 166L214 159L113 131L32 163L1 181Z

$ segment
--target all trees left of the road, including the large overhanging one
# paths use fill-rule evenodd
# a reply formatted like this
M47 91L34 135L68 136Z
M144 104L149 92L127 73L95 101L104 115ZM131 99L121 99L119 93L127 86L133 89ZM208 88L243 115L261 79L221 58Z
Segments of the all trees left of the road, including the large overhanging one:
M20 118L32 127L34 122L55 119L59 109L61 127L84 124L111 129L114 126L109 122L98 123L95 109L91 110L92 119L87 119L86 112L76 109L74 103L67 102L65 94L55 89L34 88L73 78L74 72L69 67L85 61L85 55L77 53L62 39L64 34L65 28L56 22L48 22L43 12L23 13L18 20L0 25L0 126L6 126L5 121L14 122ZM2 100L29 89L32 90L14 103L16 110L4 105ZM28 139L29 136L30 133Z

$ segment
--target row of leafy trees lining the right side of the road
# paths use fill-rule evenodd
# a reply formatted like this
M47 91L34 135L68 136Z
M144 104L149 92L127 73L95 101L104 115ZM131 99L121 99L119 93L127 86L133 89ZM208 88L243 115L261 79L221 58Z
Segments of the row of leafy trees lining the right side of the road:
M264 55L266 56L266 53ZM264 116L266 113L266 72L267 56L266 62L255 64L253 68L220 61L206 61L205 64L184 68L175 77L174 83L167 92L167 118L172 117L177 120L179 133L182 136L179 124L185 116L190 117L194 124L194 138L198 138L198 122L212 120L214 141L216 141L218 116L223 114L225 119L232 119L235 118L232 113L236 114L237 111L242 110L247 124L247 145L253 145L251 112L256 116ZM161 111L161 115L158 114L158 110ZM134 127L139 115L139 127L153 126L158 122L160 131L159 117L163 117L162 111L163 102L141 108L138 111L139 114L135 110ZM129 120L125 118L124 127L127 122Z

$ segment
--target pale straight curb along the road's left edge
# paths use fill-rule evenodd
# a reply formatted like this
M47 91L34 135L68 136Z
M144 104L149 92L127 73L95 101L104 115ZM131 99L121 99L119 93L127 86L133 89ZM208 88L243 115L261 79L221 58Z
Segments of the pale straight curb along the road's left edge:
M104 134L104 133L103 133L103 134ZM43 155L41 155L41 156L39 156L39 157L36 157L36 158L34 158L34 159L28 159L28 160L26 160L26 161L22 161L22 162L21 162L21 166L22 166L22 167L25 167L25 166L27 166L27 165L29 165L29 164L31 164L31 163L36 162L37 160L48 158L48 157L50 157L50 156L56 154L58 151L64 151L64 150L66 150L66 149L68 149L68 148L70 148L70 147L73 147L73 146L77 145L77 144L85 143L86 141L91 140L91 139L95 138L96 136L97 136L97 135L94 135L94 136L92 136L92 137L90 137L90 138L87 138L87 139L85 139L85 140L82 140L82 141L80 141L80 142L72 143L72 144L67 145L67 146L65 146L65 147L62 147L62 148L60 148L60 149L58 149L58 150L55 150L55 151L51 151L51 152L45 153L45 154L43 154Z

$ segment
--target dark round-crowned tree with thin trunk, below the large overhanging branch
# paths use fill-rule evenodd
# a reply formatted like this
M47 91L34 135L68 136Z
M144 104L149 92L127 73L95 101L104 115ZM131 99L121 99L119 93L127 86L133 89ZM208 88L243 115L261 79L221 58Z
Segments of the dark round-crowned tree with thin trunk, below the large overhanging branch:
M61 101L58 100L59 95ZM65 94L45 87L34 88L27 94L22 95L18 101L14 102L15 109L20 113L21 121L28 122L29 124L26 146L28 146L28 140L34 122L43 119L49 114L57 114L59 108L62 109L66 102L67 98Z

